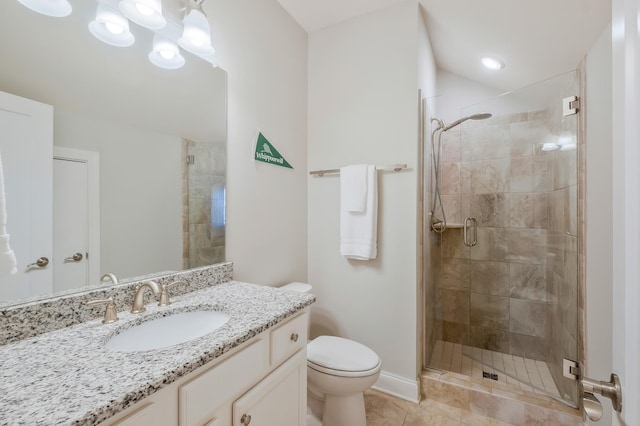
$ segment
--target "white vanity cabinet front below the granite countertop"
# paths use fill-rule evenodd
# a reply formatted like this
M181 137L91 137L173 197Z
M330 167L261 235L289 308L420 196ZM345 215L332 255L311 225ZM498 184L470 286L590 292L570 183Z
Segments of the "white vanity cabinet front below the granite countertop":
M308 309L108 419L117 426L304 426Z

